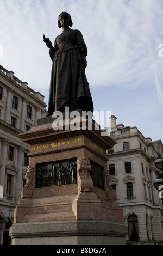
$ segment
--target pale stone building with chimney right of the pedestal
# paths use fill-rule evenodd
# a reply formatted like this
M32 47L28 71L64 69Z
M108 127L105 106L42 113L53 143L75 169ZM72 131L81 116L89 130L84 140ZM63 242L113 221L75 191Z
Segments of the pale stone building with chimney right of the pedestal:
M110 184L128 225L126 243L163 245L162 202L153 186L154 162L159 153L163 156L162 141L145 138L136 127L116 124L114 115L110 123L110 136L117 142L108 150Z

